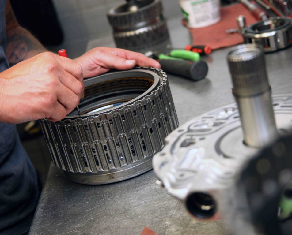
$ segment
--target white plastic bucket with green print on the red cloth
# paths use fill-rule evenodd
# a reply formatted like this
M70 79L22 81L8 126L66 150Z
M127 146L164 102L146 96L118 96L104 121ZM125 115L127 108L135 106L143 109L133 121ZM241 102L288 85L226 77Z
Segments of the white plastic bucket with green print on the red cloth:
M201 28L221 19L220 0L178 0L189 28Z

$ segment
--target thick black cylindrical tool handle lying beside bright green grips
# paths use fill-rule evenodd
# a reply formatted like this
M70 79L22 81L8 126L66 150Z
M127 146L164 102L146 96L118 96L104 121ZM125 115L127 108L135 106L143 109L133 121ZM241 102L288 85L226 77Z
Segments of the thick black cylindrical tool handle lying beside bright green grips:
M177 61L160 60L161 69L166 73L173 73L179 76L190 78L194 81L203 79L208 73L208 65L204 61Z

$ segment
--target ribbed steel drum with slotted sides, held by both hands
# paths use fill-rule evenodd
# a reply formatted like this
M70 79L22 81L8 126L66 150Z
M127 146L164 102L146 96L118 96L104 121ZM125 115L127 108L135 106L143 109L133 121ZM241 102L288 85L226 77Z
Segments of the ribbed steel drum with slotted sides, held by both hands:
M152 156L178 126L160 69L138 67L85 79L85 97L58 122L41 120L52 162L73 181L105 184L152 168Z

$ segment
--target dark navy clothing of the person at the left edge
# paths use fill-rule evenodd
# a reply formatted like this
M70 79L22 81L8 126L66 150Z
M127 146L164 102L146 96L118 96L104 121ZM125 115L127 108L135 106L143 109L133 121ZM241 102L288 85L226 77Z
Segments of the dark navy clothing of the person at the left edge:
M5 7L6 0L0 0L0 72L9 68ZM21 235L29 230L38 196L36 173L16 126L0 123L0 235Z

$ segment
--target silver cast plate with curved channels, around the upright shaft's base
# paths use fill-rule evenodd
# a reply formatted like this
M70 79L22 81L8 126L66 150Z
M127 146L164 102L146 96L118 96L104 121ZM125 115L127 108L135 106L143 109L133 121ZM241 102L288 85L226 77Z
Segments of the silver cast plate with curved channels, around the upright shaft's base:
M279 133L289 133L292 95L273 96L272 102ZM185 202L196 217L218 218L224 214L226 221L233 221L231 228L236 227L241 220L234 221L235 215L230 213L230 197L234 194L227 189L234 186L242 167L260 151L244 144L237 104L188 121L165 141L165 147L153 157L153 169L169 194ZM240 211L234 213L240 217ZM247 229L234 234L253 234Z

